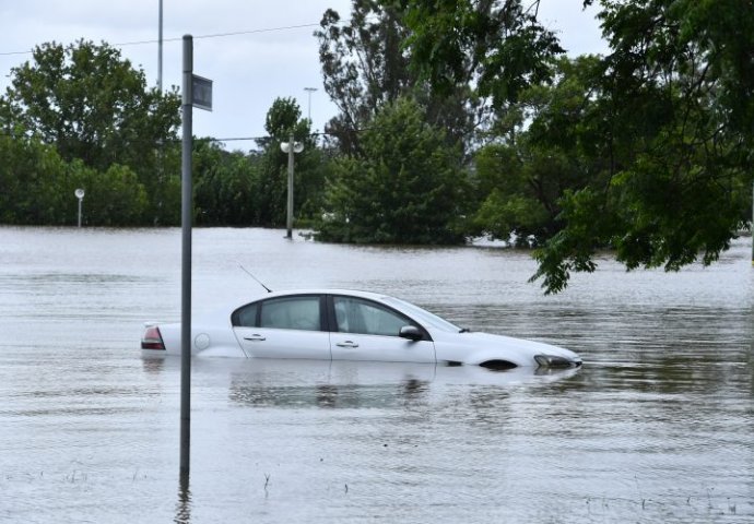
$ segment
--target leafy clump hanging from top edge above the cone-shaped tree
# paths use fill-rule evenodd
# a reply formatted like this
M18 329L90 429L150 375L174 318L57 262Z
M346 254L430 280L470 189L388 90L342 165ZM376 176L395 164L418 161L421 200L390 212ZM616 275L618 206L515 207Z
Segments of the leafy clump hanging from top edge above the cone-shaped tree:
M495 108L529 85L547 82L557 37L537 20L539 0L390 0L411 29L404 46L412 67L433 90L451 94L475 86Z

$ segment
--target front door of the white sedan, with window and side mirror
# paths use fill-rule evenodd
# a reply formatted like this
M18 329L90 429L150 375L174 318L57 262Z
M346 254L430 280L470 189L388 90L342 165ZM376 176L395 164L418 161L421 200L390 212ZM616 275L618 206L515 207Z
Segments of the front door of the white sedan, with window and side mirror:
M428 340L398 336L401 327L415 325L404 314L374 300L331 296L330 349L333 360L435 362L435 346ZM424 331L424 330L422 330Z

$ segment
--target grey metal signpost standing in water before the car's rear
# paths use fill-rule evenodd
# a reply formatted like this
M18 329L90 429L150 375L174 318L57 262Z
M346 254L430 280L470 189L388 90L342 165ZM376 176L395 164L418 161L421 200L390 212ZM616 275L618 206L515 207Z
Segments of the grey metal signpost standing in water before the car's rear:
M181 286L180 286L180 476L188 479L191 446L191 148L193 127L193 38L184 35L184 136L181 151Z

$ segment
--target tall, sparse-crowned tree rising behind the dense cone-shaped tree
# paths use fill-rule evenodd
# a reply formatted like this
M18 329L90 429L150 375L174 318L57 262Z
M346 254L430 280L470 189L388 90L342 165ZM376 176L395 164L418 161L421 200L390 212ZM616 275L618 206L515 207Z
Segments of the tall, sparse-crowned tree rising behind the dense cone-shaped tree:
M468 86L434 94L410 67L411 31L402 7L393 1L353 0L351 19L338 12L322 15L319 40L325 91L339 109L326 126L339 148L361 153L361 133L386 104L413 96L425 118L446 129L450 145L468 141L475 100Z

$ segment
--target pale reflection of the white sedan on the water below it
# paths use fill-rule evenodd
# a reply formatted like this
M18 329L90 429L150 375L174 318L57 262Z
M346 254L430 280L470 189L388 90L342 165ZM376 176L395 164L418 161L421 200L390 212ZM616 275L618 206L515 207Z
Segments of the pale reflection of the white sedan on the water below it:
M148 374L179 374L170 357L142 359ZM581 368L515 368L434 364L299 359L192 359L196 388L227 388L233 403L274 408L369 409L431 404L444 389L543 385L576 376ZM441 398L440 398L441 400Z

